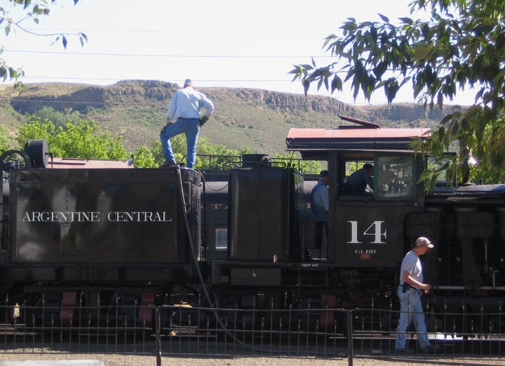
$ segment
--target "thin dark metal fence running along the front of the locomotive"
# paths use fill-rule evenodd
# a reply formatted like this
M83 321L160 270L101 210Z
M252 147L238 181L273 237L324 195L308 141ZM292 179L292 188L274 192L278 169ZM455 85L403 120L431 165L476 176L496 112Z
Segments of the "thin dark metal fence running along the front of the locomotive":
M6 301L7 303L7 301ZM4 305L0 353L126 353L285 358L396 357L399 312L393 309L274 309L178 306ZM438 350L417 346L412 359L505 358L505 312L429 313Z

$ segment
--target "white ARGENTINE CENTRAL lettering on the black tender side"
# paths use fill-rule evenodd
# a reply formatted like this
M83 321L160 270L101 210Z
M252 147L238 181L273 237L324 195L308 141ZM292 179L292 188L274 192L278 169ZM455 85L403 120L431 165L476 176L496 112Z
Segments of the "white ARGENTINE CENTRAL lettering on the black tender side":
M100 221L100 211L32 211L25 212L24 222L30 223L86 223ZM124 222L170 222L166 211L111 211L107 221Z

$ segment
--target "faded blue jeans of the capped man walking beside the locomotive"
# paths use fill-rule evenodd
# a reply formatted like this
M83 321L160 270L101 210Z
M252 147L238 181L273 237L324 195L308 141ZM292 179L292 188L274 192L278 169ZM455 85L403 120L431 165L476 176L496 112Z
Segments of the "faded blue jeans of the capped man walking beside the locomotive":
M419 347L425 348L429 345L428 334L426 334L426 324L424 323L424 313L422 310L421 296L417 289L408 289L403 292L403 287L398 287L398 299L400 299L400 320L398 320L398 333L396 334L396 349L407 346L407 328L414 320L417 331L417 343Z

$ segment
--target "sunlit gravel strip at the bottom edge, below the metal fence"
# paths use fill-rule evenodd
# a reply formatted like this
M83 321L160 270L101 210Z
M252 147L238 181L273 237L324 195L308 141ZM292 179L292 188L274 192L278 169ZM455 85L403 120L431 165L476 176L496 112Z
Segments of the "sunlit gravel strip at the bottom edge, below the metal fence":
M116 354L27 354L27 353L0 353L1 361L37 361L37 360L100 360L105 366L156 366L156 357L152 355L116 355ZM504 365L505 359L457 359L450 358L354 358L354 366L412 366L412 365ZM224 357L204 358L187 357L175 358L163 356L162 366L347 366L347 358L322 360L314 358L267 358L267 357ZM0 362L1 366L1 362Z

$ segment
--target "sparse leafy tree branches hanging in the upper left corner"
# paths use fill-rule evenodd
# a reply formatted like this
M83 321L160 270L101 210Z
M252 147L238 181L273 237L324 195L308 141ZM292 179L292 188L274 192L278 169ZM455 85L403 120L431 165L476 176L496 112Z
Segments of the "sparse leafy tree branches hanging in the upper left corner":
M79 2L79 0L73 0L74 5ZM5 2L5 1L4 1ZM2 4L0 6L0 26L4 27L4 32L6 37L9 36L14 31L25 32L28 34L33 34L38 37L50 37L54 39L54 42L61 41L64 48L67 48L67 37L74 36L79 37L81 46L85 41L88 40L86 34L78 32L75 34L70 33L38 33L28 30L24 25L25 22L32 20L35 24L39 24L39 20L49 15L50 8L52 6L57 6L56 0L8 0L7 4ZM21 18L14 18L13 13L15 13L16 8L22 7ZM15 68L6 63L6 60L1 57L4 52L4 46L0 45L0 78L6 81L18 80L18 78L24 75L24 71L20 68ZM17 82L15 86L20 86Z

